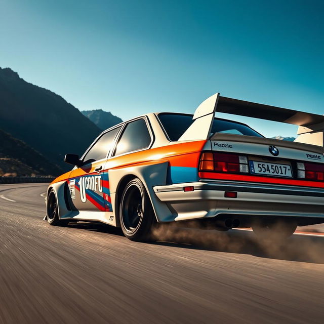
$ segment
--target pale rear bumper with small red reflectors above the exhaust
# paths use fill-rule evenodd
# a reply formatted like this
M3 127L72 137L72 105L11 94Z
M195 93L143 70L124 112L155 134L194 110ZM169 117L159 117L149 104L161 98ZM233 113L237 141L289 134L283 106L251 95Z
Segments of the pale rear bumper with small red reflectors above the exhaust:
M185 192L185 186L194 190ZM217 180L153 189L173 210L176 221L220 214L324 218L324 189ZM235 191L237 197L226 198L225 191Z

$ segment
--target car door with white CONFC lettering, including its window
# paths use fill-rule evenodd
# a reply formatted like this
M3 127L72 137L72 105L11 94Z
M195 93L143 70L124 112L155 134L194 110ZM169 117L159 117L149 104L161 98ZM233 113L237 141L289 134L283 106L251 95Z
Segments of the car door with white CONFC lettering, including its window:
M105 211L104 167L110 149L121 126L102 133L84 154L83 166L75 168L68 181L73 209L79 211Z

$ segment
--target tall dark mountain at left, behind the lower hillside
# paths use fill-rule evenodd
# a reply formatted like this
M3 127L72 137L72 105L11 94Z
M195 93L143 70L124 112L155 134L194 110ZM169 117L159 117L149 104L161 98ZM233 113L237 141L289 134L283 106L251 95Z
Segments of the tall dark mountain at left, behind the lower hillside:
M65 153L81 155L101 130L73 105L0 68L0 129L26 142L64 170Z

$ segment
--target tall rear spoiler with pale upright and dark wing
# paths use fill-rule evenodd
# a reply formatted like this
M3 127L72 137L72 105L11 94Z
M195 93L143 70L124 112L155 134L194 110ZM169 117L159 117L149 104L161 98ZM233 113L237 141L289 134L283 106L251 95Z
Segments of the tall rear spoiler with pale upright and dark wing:
M299 126L297 134L317 133L324 130L324 115L221 97L216 93L198 106L192 118L194 122L179 141L208 139L215 112L296 125Z

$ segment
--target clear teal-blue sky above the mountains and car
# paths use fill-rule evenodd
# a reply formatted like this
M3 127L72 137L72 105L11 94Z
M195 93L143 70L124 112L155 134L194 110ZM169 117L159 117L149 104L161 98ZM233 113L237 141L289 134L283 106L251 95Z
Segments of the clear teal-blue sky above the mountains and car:
M320 1L0 0L0 66L123 119L192 113L215 92L323 114L323 16Z

